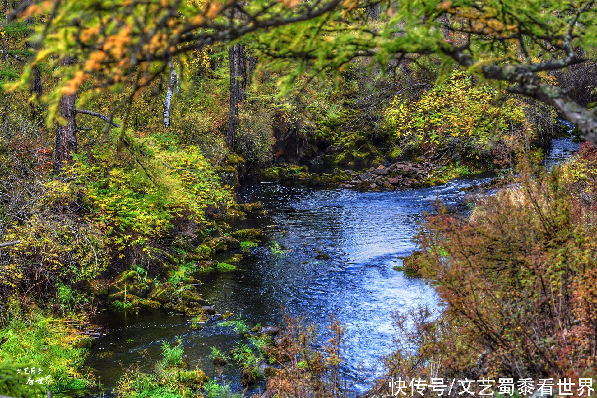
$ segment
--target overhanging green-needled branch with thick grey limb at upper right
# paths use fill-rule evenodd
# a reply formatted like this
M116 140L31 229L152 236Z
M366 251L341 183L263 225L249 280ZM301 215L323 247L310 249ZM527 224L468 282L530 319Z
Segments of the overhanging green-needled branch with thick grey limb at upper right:
M381 5L382 24L369 23L368 11L340 11L322 26L272 30L260 36L260 47L303 62L287 87L305 67L315 73L341 70L367 57L387 71L396 60L418 63L421 57L436 57L444 62L444 72L456 64L481 81L555 107L597 144L597 113L571 100L567 88L549 75L594 57L594 0L400 0Z

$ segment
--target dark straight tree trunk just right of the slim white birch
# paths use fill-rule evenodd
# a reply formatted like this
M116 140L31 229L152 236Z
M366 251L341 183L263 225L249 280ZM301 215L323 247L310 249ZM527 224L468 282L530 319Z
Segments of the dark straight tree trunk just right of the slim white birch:
M230 115L226 145L232 149L234 134L238 124L238 108L247 96L247 65L245 64L245 46L235 44L228 50L230 56Z

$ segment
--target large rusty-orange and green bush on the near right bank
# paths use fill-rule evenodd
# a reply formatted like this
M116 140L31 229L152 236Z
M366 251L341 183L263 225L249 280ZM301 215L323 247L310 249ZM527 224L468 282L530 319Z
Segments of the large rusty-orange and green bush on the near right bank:
M441 306L398 315L392 376L595 374L595 149L550 171L532 158L517 186L478 199L467 218L440 208L418 235Z

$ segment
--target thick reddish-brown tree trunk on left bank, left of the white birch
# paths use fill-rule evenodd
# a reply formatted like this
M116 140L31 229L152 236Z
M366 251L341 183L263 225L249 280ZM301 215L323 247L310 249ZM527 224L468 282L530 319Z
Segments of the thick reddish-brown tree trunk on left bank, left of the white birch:
M73 62L73 58L64 57L60 64L67 66L73 64ZM54 145L54 172L56 174L60 173L63 162L72 162L72 153L76 153L75 109L75 94L64 95L60 98L60 116L64 118L66 124L57 123L56 144Z

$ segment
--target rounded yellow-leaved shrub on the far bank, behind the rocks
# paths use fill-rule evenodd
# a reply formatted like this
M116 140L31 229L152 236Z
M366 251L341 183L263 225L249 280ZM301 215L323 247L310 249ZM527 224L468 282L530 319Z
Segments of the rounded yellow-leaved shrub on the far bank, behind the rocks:
M493 88L476 85L457 70L416 100L396 97L386 110L387 128L395 132L402 151L431 153L436 158L462 155L478 163L491 155L494 135L499 138L525 125L527 110L555 118L553 110L531 109L528 101L512 95L496 103L497 96Z

